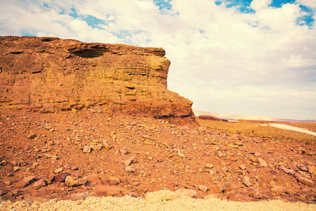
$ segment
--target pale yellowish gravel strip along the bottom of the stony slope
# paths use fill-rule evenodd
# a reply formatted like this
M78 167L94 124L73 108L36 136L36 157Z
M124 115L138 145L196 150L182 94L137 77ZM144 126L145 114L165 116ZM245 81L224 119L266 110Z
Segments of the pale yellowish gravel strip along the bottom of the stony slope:
M170 193L156 192L166 196ZM1 201L0 210L316 210L315 204L286 203L281 200L266 200L260 202L235 202L221 200L211 196L205 199L181 196L171 200L147 200L131 196L96 197L89 196L86 200L48 200L47 203L10 200Z

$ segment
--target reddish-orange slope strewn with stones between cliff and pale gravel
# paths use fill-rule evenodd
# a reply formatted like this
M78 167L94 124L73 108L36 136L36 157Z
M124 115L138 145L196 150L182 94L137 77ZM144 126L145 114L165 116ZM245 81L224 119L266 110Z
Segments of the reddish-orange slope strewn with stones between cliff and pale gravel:
M0 124L4 199L137 197L184 188L197 198L315 203L315 144L91 110L2 110Z

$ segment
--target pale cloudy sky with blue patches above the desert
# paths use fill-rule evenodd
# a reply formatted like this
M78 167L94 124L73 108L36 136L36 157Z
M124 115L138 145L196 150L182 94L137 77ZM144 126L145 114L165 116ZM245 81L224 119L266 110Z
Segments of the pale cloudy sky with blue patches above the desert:
M168 89L221 115L316 120L316 0L1 0L0 36L162 47Z

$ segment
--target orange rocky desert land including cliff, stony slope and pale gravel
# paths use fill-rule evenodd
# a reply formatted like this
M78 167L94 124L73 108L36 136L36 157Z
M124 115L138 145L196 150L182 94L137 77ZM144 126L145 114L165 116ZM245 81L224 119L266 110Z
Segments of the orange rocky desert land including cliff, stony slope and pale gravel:
M315 136L195 118L163 49L0 44L2 210L315 210Z

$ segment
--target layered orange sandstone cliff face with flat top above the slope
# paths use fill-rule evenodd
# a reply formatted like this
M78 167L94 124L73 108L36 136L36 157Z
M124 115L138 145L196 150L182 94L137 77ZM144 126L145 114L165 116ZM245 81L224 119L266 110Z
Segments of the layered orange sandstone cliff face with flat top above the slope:
M0 108L191 120L192 102L166 89L164 49L55 37L0 37Z

